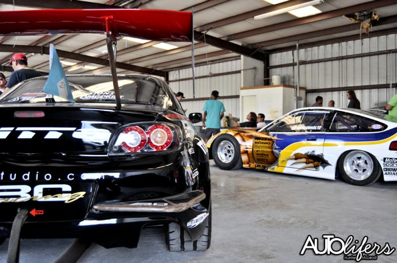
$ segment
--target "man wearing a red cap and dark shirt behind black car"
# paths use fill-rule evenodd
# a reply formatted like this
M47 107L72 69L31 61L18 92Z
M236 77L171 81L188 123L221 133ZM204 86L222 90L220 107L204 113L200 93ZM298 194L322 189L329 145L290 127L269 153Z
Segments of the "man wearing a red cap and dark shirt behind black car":
M8 65L12 65L14 72L9 76L4 92L21 81L41 76L38 71L28 67L28 59L23 53L13 54Z

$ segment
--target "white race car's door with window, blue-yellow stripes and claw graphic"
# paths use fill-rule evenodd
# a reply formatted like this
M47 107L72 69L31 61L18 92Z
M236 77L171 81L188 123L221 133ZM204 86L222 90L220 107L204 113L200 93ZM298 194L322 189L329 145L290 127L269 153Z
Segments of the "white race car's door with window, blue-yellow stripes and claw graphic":
M274 138L269 151L278 158L268 170L294 174L318 170L324 162L325 120L329 115L326 110L295 111L268 127L269 136Z

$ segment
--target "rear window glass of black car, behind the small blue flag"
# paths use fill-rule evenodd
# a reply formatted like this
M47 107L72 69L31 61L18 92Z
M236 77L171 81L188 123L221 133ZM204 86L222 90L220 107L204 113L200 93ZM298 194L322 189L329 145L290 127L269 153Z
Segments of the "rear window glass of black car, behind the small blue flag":
M2 103L46 103L46 98L57 102L66 99L43 93L47 77L22 82L1 98ZM67 76L76 103L115 103L111 76ZM123 104L147 104L164 108L172 106L167 87L161 81L146 76L119 77L120 97Z

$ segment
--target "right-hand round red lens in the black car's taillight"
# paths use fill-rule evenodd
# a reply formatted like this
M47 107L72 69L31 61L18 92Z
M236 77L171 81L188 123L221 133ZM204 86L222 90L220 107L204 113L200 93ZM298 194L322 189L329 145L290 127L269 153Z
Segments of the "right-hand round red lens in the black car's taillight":
M172 142L172 132L164 124L151 126L147 131L147 135L149 136L149 146L156 151L166 149Z

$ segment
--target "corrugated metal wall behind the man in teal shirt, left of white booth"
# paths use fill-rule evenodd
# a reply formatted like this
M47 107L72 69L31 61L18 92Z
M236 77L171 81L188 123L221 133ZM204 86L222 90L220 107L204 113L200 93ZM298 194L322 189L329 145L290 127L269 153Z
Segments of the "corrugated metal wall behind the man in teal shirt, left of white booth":
M236 71L241 69L241 60L231 60L216 64L209 64L204 66L196 67L195 76L204 76L209 73L224 73L230 71ZM192 69L180 69L176 71L170 71L169 80L183 79L192 77ZM170 82L169 86L171 89L177 93L178 91L183 92L186 99L193 98L193 83L192 80ZM217 77L207 77L196 79L196 98L205 98L211 96L212 90L219 91L219 96L231 96L240 95L241 86L241 73L217 76ZM225 105L225 114L232 113L233 116L238 116L240 112L240 101L239 99L222 99L220 101ZM181 104L183 108L187 108L186 114L192 112L203 112L202 107L204 106L205 100L184 102ZM201 125L201 123L199 123Z

